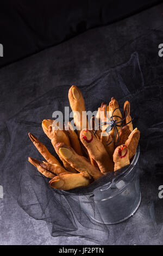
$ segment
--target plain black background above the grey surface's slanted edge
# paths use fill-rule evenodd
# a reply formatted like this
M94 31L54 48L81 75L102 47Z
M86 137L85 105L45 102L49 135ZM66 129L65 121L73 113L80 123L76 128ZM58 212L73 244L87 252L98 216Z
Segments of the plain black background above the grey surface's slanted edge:
M0 67L106 25L160 0L5 0L0 3Z

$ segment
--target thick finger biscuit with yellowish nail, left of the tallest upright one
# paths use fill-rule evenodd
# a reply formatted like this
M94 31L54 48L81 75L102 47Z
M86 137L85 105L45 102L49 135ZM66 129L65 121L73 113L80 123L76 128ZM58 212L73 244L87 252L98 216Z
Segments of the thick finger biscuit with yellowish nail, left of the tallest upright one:
M46 119L42 121L42 129L46 133L49 139L51 139L52 145L56 151L56 153L59 155L60 160L64 164L64 167L66 170L68 170L71 173L77 173L77 171L71 167L69 163L67 163L58 153L58 150L56 149L55 145L59 142L65 143L66 145L70 146L70 140L68 136L66 135L66 132L63 130L54 130L52 127L52 124L49 123Z

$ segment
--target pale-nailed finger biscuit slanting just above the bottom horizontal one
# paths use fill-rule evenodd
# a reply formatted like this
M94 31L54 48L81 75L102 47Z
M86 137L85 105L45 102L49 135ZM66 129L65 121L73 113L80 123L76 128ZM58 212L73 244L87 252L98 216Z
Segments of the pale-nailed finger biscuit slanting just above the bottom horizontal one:
M56 148L58 148L59 154L86 178L97 180L103 175L95 166L92 166L84 156L79 156L76 151L66 144L58 143Z

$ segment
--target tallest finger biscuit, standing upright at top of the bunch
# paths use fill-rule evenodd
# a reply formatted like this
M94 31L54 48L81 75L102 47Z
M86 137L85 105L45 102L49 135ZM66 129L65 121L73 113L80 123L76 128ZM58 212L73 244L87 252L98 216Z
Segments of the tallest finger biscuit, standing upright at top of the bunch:
M73 111L73 119L74 119L74 124L77 127L78 137L80 137L80 131L83 128L86 128L88 123L87 123L84 99L83 99L82 93L80 92L77 86L72 86L69 89L68 99L70 102L71 109ZM83 118L82 118L82 113L83 113Z

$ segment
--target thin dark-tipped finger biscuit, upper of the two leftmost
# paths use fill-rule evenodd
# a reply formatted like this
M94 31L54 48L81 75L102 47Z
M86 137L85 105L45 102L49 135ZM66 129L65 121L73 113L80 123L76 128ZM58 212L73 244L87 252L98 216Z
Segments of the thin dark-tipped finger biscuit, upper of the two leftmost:
M28 133L29 138L31 139L31 141L33 142L33 144L35 145L36 149L40 152L40 154L45 158L45 160L48 163L54 163L54 164L58 164L61 165L60 162L51 154L49 153L48 149L45 147L45 145L43 145L39 139L37 139L32 133Z

